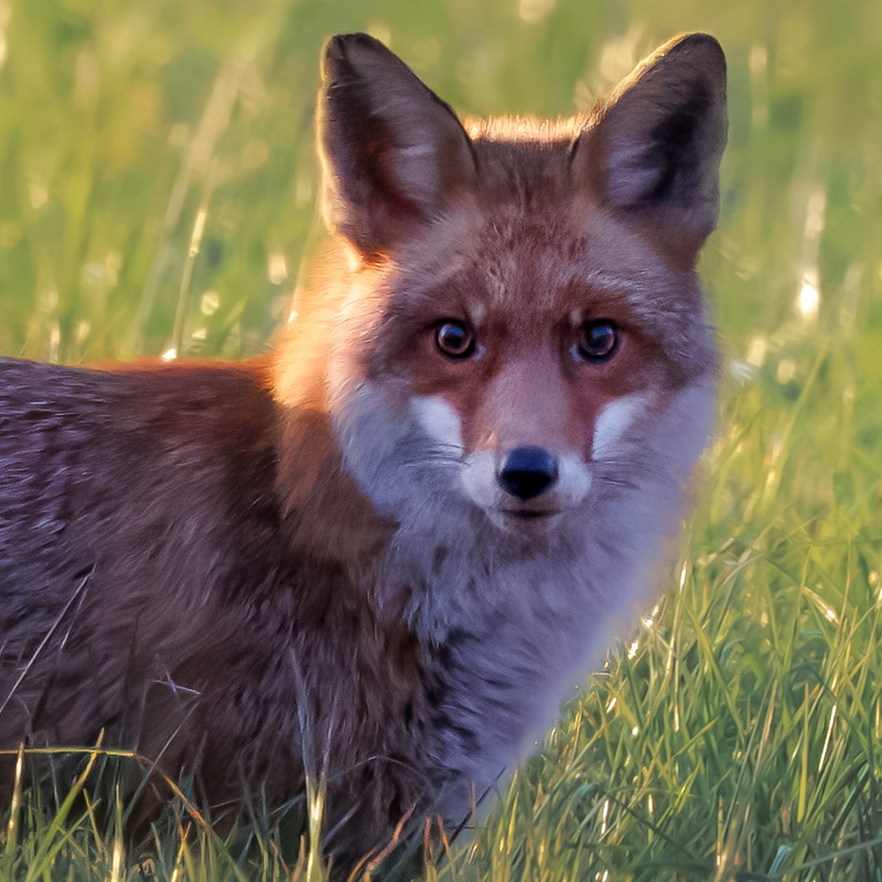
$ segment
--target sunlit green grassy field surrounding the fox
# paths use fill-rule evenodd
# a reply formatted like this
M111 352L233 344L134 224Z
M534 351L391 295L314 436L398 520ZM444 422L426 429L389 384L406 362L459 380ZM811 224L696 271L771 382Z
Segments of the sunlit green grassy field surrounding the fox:
M877 0L0 0L0 352L264 349L321 235L318 52L355 29L475 114L587 108L681 30L730 64L702 264L726 369L682 566L425 878L882 879ZM21 800L3 879L323 878L269 828L243 848L179 808L143 861L123 806Z

